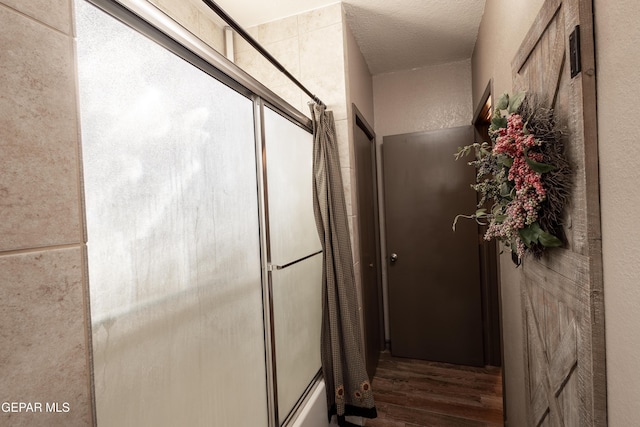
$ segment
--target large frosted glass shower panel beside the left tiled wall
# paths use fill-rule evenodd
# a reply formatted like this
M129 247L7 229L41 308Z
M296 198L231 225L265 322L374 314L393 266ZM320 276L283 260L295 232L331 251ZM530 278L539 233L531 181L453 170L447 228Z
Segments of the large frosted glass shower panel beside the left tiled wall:
M75 9L98 425L267 426L253 103Z

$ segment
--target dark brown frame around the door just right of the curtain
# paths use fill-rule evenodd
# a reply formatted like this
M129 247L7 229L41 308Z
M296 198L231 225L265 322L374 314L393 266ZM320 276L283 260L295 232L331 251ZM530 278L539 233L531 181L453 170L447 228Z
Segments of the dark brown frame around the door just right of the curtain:
M367 138L369 138L369 142L371 143L371 171L372 171L372 175L373 175L373 180L371 182L372 185L372 194L373 194L373 223L374 223L374 230L375 230L375 236L374 236L374 244L375 244L375 262L379 264L378 268L376 269L376 287L378 290L378 318L379 318L379 325L378 325L378 333L379 333L379 350L382 351L384 350L384 346L385 346L385 319L384 319L384 298L383 298L383 288L382 288L382 264L381 264L381 259L382 259L382 246L381 246L381 236L380 236L380 217L379 217L379 209L380 209L380 205L379 205L379 200L378 200L378 169L377 169L377 164L378 164L378 158L377 158L377 150L376 150L376 134L373 130L373 126L371 126L369 124L369 122L367 122L367 120L364 118L364 115L362 114L362 112L358 109L358 107L356 106L356 104L351 103L351 111L352 111L352 126L350 129L350 132L352 133L352 140L354 141L355 144L355 131L356 131L356 127L358 127L360 130L362 130L364 132L364 134L367 136ZM355 150L354 150L355 151ZM357 162L355 161L355 153L354 153L354 164L357 164ZM355 169L355 168L354 168ZM356 172L356 189L359 189L359 184L357 183L357 172ZM356 203L358 203L358 236L360 237L360 241L358 242L358 247L361 248L361 236L362 236L362 223L360 222L360 205L359 202L357 201L357 197L356 197ZM355 227L355 224L354 224ZM361 251L359 251L359 254L361 254ZM364 265L364 263L362 262L361 259L358 259L358 261L360 262L360 277L364 277L364 270L366 268L366 266ZM365 323L364 321L366 320L364 316L366 316L366 312L363 306L363 324L362 324L362 329L363 329L363 339L366 339L366 333L365 333ZM365 343L365 349L367 348L366 343Z

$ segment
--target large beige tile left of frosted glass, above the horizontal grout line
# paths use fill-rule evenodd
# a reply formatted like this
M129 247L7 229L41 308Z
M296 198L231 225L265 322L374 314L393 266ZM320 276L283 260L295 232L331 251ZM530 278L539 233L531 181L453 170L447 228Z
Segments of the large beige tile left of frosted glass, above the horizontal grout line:
M0 7L0 250L83 241L73 39Z

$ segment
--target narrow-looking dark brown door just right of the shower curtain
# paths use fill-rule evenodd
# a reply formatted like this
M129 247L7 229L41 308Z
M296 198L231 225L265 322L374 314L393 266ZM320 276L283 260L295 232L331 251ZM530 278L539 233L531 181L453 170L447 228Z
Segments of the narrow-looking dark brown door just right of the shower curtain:
M384 349L375 145L373 131L360 113L355 113L354 123L365 357L367 374L373 378L380 351Z

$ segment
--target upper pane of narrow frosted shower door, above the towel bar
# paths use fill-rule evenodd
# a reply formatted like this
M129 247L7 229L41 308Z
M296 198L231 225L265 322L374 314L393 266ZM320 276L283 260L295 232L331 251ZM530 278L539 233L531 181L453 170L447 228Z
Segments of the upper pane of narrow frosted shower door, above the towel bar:
M264 109L271 263L286 265L322 247L313 214L313 136Z

